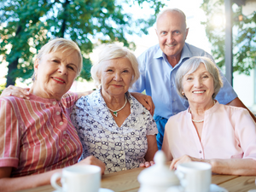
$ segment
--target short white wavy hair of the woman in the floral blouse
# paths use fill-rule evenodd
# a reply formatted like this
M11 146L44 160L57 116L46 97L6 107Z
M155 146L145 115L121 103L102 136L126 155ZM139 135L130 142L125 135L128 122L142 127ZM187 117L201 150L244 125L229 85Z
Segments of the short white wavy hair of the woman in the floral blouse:
M101 84L100 73L103 61L124 57L131 62L131 67L133 69L130 87L137 81L140 77L140 72L138 70L137 58L131 50L117 44L105 44L98 55L98 61L90 69L91 77L94 79L97 87Z

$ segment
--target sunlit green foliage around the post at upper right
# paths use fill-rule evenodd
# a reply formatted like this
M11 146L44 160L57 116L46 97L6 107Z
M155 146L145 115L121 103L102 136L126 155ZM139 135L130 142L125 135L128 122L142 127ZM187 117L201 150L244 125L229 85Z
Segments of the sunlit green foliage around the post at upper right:
M224 67L224 23L218 28L213 25L215 15L224 15L224 0L204 0L201 4L207 15L207 38L212 44L212 56L219 67ZM241 7L233 3L233 71L250 74L250 70L256 66L256 12L252 15L242 15ZM243 19L238 20L242 15Z

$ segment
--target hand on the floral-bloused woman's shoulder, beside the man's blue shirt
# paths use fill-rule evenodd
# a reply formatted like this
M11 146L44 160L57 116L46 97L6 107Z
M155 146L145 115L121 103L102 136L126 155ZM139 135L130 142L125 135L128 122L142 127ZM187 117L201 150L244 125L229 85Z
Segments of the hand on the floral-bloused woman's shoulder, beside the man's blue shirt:
M147 108L152 116L154 115L154 102L151 96L147 96L137 92L131 92L131 96L134 96L138 102L140 102L145 108Z

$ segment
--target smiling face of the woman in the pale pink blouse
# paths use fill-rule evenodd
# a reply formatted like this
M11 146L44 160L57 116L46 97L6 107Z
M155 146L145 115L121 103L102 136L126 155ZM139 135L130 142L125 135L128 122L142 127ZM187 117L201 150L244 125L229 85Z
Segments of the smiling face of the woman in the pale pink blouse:
M188 98L189 104L211 105L214 93L213 78L203 63L200 64L194 73L184 75L183 92Z

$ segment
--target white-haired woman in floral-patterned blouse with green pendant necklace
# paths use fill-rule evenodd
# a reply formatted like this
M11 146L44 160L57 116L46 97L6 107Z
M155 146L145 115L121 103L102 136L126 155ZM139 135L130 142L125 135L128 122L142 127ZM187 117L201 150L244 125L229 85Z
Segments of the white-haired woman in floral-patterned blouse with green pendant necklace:
M100 88L82 96L71 115L83 144L81 160L95 156L105 163L105 173L152 161L158 132L154 119L128 92L139 77L135 55L119 45L105 45L90 72Z

